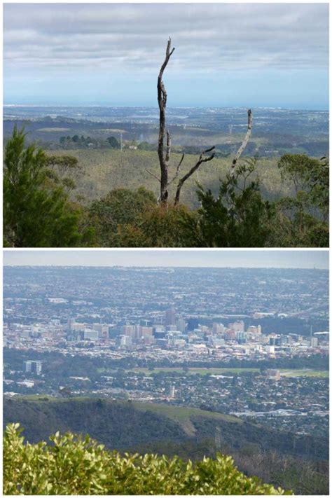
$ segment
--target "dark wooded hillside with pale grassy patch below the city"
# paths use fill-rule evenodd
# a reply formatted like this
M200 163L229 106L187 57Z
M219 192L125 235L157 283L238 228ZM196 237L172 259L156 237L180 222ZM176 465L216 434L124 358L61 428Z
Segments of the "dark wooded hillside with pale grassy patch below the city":
M48 401L46 401L48 400ZM230 448L256 445L310 459L328 458L328 441L261 427L236 417L195 408L108 401L105 399L9 399L4 401L4 424L19 422L31 442L45 440L55 431L88 433L107 448L144 448L153 442L202 441L214 438Z

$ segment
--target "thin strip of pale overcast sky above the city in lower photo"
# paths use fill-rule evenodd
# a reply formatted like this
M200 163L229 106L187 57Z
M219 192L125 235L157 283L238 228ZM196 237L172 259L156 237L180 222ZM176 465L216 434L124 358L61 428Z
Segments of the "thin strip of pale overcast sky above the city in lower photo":
M328 251L4 250L4 265L328 268Z

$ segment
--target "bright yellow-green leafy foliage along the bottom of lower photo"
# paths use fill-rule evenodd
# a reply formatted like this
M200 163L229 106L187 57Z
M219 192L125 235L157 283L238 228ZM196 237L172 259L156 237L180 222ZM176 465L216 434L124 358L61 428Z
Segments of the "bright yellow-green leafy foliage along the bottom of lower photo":
M4 494L284 494L237 471L231 457L183 462L108 452L89 436L51 436L35 445L9 424L4 436ZM289 492L286 494L290 494Z

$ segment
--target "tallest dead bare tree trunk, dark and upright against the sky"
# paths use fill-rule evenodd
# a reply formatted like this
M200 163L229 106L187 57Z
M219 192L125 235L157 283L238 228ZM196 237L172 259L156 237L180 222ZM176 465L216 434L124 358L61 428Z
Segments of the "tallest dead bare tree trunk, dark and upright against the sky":
M172 53L174 52L174 48L171 50L171 39L167 42L166 55L165 60L162 63L162 67L160 67L159 76L158 76L158 106L159 106L159 137L158 137L158 158L160 164L160 202L167 202L168 198L168 164L170 161L170 153L171 153L171 138L170 133L167 130L167 148L166 153L164 151L164 142L165 142L165 116L166 116L166 104L167 104L167 92L165 90L164 83L162 82L162 75L165 71L165 68L170 60Z

